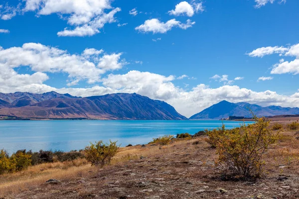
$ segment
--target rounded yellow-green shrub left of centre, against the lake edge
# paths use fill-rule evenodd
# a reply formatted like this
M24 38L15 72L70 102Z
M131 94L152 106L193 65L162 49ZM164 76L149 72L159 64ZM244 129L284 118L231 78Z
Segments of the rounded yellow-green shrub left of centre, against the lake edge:
M110 144L104 144L103 141L95 142L95 144L90 143L89 146L85 147L86 159L91 163L92 166L103 167L106 164L110 164L113 156L116 155L119 146L116 142L111 142Z

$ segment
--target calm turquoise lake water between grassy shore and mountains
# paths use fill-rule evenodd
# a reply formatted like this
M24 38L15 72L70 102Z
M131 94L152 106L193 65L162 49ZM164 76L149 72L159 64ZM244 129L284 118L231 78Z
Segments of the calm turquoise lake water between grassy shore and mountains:
M251 123L251 122L247 122ZM227 128L238 127L239 121L224 121ZM10 154L18 149L32 151L83 149L89 142L118 140L119 144L146 144L162 135L176 135L221 127L219 120L179 121L101 121L101 120L50 120L0 121L0 149Z

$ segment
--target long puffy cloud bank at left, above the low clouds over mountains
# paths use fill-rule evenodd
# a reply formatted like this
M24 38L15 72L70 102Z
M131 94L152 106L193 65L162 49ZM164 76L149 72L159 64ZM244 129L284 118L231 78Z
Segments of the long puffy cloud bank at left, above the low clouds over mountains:
M100 76L107 71L122 68L126 62L121 59L122 53L104 54L103 50L85 49L82 55L69 54L65 50L45 46L39 43L25 43L21 47L3 49L0 47L0 74L3 77L19 77L15 68L29 66L34 77L21 76L45 80L45 72L66 73L72 83L87 80L93 84L100 81ZM41 83L41 82L38 82Z

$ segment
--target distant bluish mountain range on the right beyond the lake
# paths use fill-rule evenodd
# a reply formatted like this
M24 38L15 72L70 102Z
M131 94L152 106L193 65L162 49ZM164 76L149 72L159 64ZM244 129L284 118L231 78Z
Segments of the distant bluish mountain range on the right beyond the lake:
M201 112L192 115L189 119L222 119L229 116L252 117L252 110L257 116L274 116L274 115L295 115L299 114L299 108L290 108L282 106L262 107L257 104L247 102L232 103L229 101L220 101Z

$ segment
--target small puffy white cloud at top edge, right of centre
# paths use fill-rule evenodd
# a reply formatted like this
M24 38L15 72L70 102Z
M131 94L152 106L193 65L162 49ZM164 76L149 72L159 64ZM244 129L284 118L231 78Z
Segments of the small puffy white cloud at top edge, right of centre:
M181 1L178 4L175 5L175 9L168 11L170 15L187 15L189 17L193 16L195 12L204 11L204 8L202 6L202 2L196 2L193 0L190 3L187 1Z

